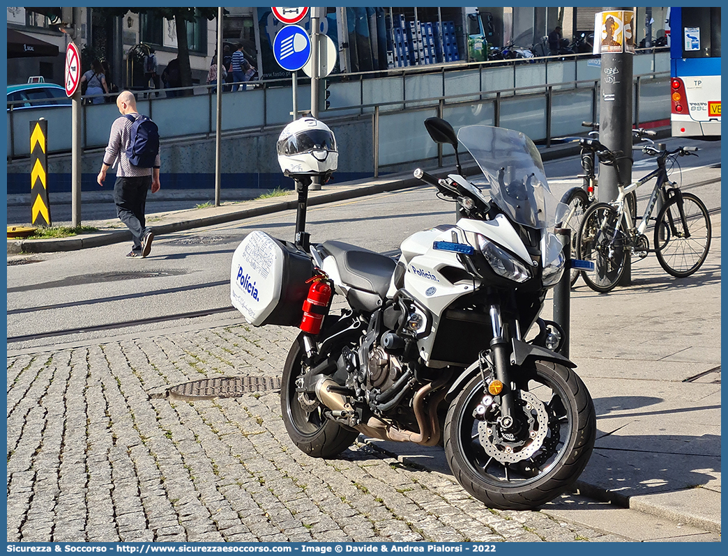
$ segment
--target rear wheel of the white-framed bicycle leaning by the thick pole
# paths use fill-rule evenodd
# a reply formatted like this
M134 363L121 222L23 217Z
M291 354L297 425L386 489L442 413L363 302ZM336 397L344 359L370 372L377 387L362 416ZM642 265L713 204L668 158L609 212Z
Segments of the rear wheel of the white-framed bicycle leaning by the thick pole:
M592 290L607 293L614 289L625 271L627 238L617 229L619 216L611 204L592 204L584 215L577 240L578 258L594 263L594 272L582 276Z

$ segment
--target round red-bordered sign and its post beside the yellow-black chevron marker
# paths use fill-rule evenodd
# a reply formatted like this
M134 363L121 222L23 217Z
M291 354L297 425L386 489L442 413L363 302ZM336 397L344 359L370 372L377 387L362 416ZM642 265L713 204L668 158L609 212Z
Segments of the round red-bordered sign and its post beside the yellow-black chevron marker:
M71 225L81 226L81 55L74 41L66 47L66 96L71 106Z

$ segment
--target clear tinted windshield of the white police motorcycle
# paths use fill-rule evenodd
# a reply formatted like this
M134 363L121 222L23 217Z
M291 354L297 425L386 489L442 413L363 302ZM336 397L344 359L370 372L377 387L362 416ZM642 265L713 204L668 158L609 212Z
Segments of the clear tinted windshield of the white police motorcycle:
M541 155L526 135L503 127L461 127L458 140L478 163L491 199L515 223L550 229L569 210L548 186Z

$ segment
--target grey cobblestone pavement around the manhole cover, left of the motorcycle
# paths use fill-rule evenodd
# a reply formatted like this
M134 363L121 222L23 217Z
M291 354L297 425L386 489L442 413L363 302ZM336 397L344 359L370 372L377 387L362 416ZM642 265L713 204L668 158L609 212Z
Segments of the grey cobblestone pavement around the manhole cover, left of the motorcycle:
M231 325L9 354L8 541L625 540L487 509L363 437L310 458L288 439L278 392L164 395L280 376L295 333Z

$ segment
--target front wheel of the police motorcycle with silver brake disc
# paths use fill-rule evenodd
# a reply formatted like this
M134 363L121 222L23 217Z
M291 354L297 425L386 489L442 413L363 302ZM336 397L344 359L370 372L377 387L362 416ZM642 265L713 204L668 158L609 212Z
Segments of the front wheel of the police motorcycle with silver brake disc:
M445 424L445 453L456 480L495 509L534 509L566 491L584 470L596 437L594 404L573 370L538 361L515 371L518 430L501 429L480 375L451 404Z

